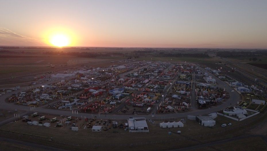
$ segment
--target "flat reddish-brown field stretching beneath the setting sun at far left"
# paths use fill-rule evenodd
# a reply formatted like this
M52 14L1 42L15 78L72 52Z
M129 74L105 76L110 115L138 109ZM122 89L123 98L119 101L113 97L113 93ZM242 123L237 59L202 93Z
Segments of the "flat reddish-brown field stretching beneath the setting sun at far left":
M0 74L11 74L19 72L30 72L34 70L47 70L51 65L75 66L85 64L92 67L109 66L122 63L111 63L116 61L111 58L81 58L75 56L8 56L0 57Z

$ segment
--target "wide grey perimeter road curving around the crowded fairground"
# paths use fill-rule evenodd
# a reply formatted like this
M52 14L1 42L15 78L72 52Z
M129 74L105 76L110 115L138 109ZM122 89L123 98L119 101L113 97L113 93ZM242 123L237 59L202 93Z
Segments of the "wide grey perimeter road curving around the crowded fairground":
M197 65L195 65L197 66ZM202 67L197 66L200 70L205 71ZM203 110L193 110L191 112L185 112L185 113L170 113L170 114L156 114L154 118L151 118L151 114L148 115L118 115L118 114L88 114L88 113L78 113L78 114L72 114L71 111L66 111L66 110L56 110L56 109L49 109L49 108L45 108L46 106L40 106L40 107L36 107L36 109L33 110L33 112L40 112L40 113L47 113L47 114L54 114L54 115L64 115L64 116L74 116L74 117L81 117L84 118L88 117L88 118L92 118L94 116L96 116L97 118L101 118L101 119L128 119L129 117L145 117L147 119L162 119L162 118L182 118L182 117L186 117L187 115L203 115L203 114L209 114L211 112L216 112L219 110L222 110L226 107L229 106L233 106L235 104L237 104L237 102L240 99L240 95L239 93L237 93L237 91L232 92L232 90L234 90L232 87L230 87L228 84L226 84L225 82L221 81L220 79L218 79L214 74L209 73L214 79L216 79L217 82L217 86L221 87L221 88L225 88L230 95L230 98L226 101L223 102L222 104L215 106L215 107L211 107L208 109L203 109ZM39 84L40 86L41 84ZM38 86L38 85L36 85ZM13 93L18 93L21 90L17 90L17 91L13 91ZM3 96L0 97L0 109L3 110L25 110L25 111L30 111L30 106L21 106L21 105L16 105L13 103L7 103L5 102L5 98L9 97L10 94L4 94Z

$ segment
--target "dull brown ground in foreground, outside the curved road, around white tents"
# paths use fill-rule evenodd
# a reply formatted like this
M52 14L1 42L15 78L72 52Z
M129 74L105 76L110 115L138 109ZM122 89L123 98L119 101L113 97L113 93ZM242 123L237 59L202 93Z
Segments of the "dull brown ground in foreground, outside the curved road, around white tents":
M62 119L62 117L59 116L46 116L48 118L58 117L58 119ZM32 121L38 121L37 117L30 117L30 119L32 119ZM124 129L113 129L112 127L108 131L102 130L100 132L92 132L91 129L84 129L84 124L86 123L84 120L77 120L79 131L71 131L69 128L70 125L54 127L55 123L52 123L51 127L42 127L38 125L27 125L22 121L3 125L0 129L10 130L12 133L20 132L47 138L53 137L53 141L55 142L41 141L41 143L51 143L50 145L53 144L54 147L61 148L64 144L72 144L69 145L67 149L73 148L73 150L86 149L89 146L91 146L90 150L99 150L106 147L109 147L111 150L115 148L121 148L123 150L166 150L209 142L214 140L214 138L222 139L240 135L241 133L237 132L237 129L229 130L227 132L225 132L225 130L235 127L237 124L247 122L244 120L238 123L229 118L218 116L216 118L216 126L213 128L201 126L196 121L190 120L186 122L185 127L181 128L161 129L158 125L161 121L179 120L180 119L162 119L155 121L154 125L148 123L149 133L129 133L129 131L124 131ZM125 123L125 121L118 121L118 125L120 123ZM48 121L43 121L43 123L44 122ZM72 120L71 122L76 122L76 120ZM220 126L221 124L230 122L232 123L231 126ZM238 130L239 129L240 128L238 128ZM172 133L171 135L168 135L168 130L173 132L180 130L182 133ZM118 133L113 133L113 131L118 131ZM225 135L222 136L222 133ZM63 135L65 136L62 137ZM25 140L28 140L26 137L24 138ZM33 140L30 139L29 141ZM78 147L78 145L87 147Z

